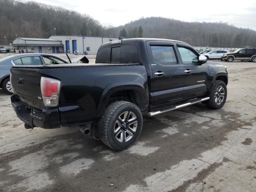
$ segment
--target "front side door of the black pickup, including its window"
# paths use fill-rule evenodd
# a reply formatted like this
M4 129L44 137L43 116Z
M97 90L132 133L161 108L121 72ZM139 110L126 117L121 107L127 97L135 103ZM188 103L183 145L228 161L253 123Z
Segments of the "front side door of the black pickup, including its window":
M177 44L185 74L184 98L197 98L208 94L210 87L209 68L200 64L198 53L185 44Z

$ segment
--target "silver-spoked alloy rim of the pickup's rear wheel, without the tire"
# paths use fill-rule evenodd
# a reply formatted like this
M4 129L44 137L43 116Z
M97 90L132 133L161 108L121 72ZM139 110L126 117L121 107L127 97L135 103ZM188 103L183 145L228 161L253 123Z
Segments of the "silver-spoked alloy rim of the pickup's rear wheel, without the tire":
M114 125L114 135L119 142L129 141L136 132L138 121L136 115L131 111L126 111L118 116Z

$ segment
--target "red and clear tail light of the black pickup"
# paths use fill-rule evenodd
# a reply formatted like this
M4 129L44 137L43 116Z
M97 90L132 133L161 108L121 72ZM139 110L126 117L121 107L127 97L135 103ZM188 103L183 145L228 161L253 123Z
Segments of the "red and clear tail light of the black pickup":
M41 93L46 107L58 106L60 97L60 81L41 77Z

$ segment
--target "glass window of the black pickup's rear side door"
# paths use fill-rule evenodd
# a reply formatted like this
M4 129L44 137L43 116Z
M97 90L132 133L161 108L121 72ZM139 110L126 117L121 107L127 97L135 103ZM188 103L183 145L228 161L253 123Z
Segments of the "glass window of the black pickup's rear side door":
M177 64L172 46L151 46L153 60L161 64Z

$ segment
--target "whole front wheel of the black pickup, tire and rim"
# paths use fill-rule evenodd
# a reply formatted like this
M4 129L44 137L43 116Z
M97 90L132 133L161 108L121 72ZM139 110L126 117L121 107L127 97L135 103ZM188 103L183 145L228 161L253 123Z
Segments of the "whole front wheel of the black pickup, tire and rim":
M206 105L211 109L220 109L224 106L227 99L227 87L223 81L216 80L210 92L210 99Z

